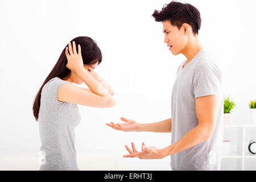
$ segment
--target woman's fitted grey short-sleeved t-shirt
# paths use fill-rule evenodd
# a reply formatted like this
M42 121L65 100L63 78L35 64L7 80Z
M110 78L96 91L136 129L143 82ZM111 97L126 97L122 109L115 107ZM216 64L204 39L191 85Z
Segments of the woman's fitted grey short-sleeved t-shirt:
M57 92L69 83L54 77L43 86L39 109L39 132L45 155L40 171L79 170L76 161L75 128L81 121L76 104L60 102Z

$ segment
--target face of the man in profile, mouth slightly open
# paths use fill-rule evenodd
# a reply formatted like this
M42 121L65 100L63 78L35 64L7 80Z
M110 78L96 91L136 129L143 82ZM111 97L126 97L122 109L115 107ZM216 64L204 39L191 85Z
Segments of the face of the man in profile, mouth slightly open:
M179 30L176 26L172 26L170 20L166 20L163 22L163 32L164 43L167 43L172 54L179 55L179 53L183 52L188 42L184 27L181 26Z

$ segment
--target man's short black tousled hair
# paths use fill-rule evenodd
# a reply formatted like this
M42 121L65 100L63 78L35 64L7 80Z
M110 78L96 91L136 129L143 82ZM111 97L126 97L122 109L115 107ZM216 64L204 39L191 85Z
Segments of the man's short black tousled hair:
M188 3L172 1L168 5L165 4L161 11L155 10L152 16L156 22L170 20L172 26L176 26L179 29L183 23L188 23L192 27L194 35L198 35L201 27L199 10Z

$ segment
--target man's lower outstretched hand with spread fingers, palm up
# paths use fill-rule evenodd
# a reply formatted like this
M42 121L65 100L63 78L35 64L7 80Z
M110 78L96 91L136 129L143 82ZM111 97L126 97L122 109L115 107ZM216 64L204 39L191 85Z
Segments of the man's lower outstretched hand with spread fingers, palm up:
M131 147L133 151L130 150L128 146L125 146L126 150L130 153L129 155L123 155L123 158L139 158L139 159L162 159L164 158L163 149L156 147L146 147L144 142L142 142L141 152L138 152L134 147L134 143L131 142Z

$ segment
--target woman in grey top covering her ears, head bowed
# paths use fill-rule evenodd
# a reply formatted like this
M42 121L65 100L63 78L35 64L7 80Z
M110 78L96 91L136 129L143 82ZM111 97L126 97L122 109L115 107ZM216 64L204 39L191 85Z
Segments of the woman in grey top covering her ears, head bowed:
M112 88L94 72L102 60L96 42L86 36L71 42L61 52L34 100L33 112L39 122L42 142L40 149L45 157L39 170L79 170L74 131L81 120L77 104L91 107L115 104ZM85 82L89 89L72 82Z

